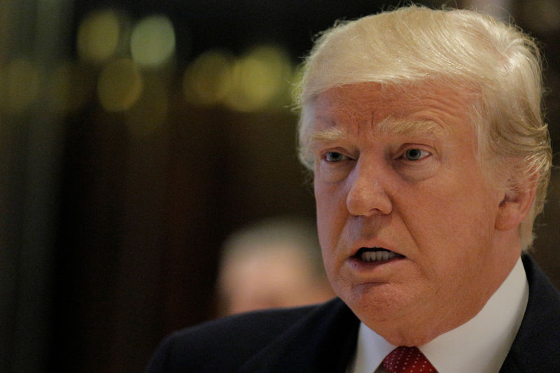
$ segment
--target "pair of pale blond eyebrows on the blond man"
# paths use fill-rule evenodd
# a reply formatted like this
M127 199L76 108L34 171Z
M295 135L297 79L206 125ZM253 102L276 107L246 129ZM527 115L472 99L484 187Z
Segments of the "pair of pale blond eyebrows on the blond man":
M386 118L376 125L377 134L398 134L409 136L426 136L430 139L437 139L447 132L441 125L433 120L400 120ZM311 143L330 142L344 139L348 136L347 132L337 127L330 127L311 134Z

